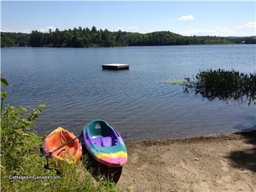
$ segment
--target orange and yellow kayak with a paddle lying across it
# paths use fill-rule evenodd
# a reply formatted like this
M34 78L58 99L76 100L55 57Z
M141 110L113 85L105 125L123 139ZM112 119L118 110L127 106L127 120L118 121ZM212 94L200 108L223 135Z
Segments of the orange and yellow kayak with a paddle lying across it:
M61 127L52 131L44 140L44 154L52 152L64 143L76 138L72 132L69 132ZM83 150L79 139L76 139L67 145L61 147L51 154L51 157L67 161L68 164L79 163Z

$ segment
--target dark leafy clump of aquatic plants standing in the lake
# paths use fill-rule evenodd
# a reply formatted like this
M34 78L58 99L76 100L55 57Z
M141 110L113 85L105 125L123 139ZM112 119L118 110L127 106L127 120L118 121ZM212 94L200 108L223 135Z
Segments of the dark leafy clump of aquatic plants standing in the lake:
M200 93L202 97L209 100L232 100L234 102L245 103L248 105L255 102L256 95L256 74L244 74L236 70L205 70L200 71L191 80L185 78L184 92L191 90L197 95Z

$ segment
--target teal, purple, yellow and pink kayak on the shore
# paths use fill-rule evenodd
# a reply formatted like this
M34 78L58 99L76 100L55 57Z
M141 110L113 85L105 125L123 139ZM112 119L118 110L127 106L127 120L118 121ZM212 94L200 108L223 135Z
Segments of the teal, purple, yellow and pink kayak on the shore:
M120 134L104 120L93 120L83 131L84 145L92 156L111 167L127 163L127 150Z

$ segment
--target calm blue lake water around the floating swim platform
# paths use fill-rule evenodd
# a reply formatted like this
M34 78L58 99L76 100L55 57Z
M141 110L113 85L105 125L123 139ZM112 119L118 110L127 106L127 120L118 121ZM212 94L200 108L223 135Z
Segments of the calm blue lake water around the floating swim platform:
M118 48L3 48L1 74L9 81L8 102L35 107L39 134L61 126L80 133L102 118L125 140L180 138L238 131L256 125L252 104L186 94L168 79L202 69L254 72L255 45L186 45ZM129 63L129 70L102 70L104 63Z

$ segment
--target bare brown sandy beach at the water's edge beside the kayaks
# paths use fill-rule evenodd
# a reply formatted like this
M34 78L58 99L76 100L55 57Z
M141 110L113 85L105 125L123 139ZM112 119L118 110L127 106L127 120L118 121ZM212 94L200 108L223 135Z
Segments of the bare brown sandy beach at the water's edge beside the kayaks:
M132 191L256 191L256 130L129 141L118 180Z

